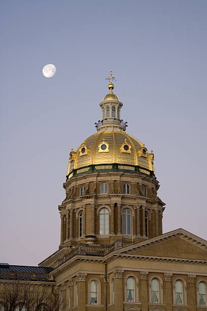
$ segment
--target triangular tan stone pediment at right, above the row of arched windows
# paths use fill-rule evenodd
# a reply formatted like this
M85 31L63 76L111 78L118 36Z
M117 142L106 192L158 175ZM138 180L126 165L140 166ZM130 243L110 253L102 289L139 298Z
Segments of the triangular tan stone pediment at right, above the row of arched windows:
M183 229L127 246L121 254L207 260L207 241Z

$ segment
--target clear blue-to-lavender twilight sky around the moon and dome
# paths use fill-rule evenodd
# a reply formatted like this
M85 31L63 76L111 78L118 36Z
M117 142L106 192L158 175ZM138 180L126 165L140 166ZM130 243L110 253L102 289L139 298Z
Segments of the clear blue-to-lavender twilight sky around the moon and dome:
M95 133L111 69L127 133L154 150L163 232L207 239L207 1L0 6L0 262L38 265L58 249L68 155Z

